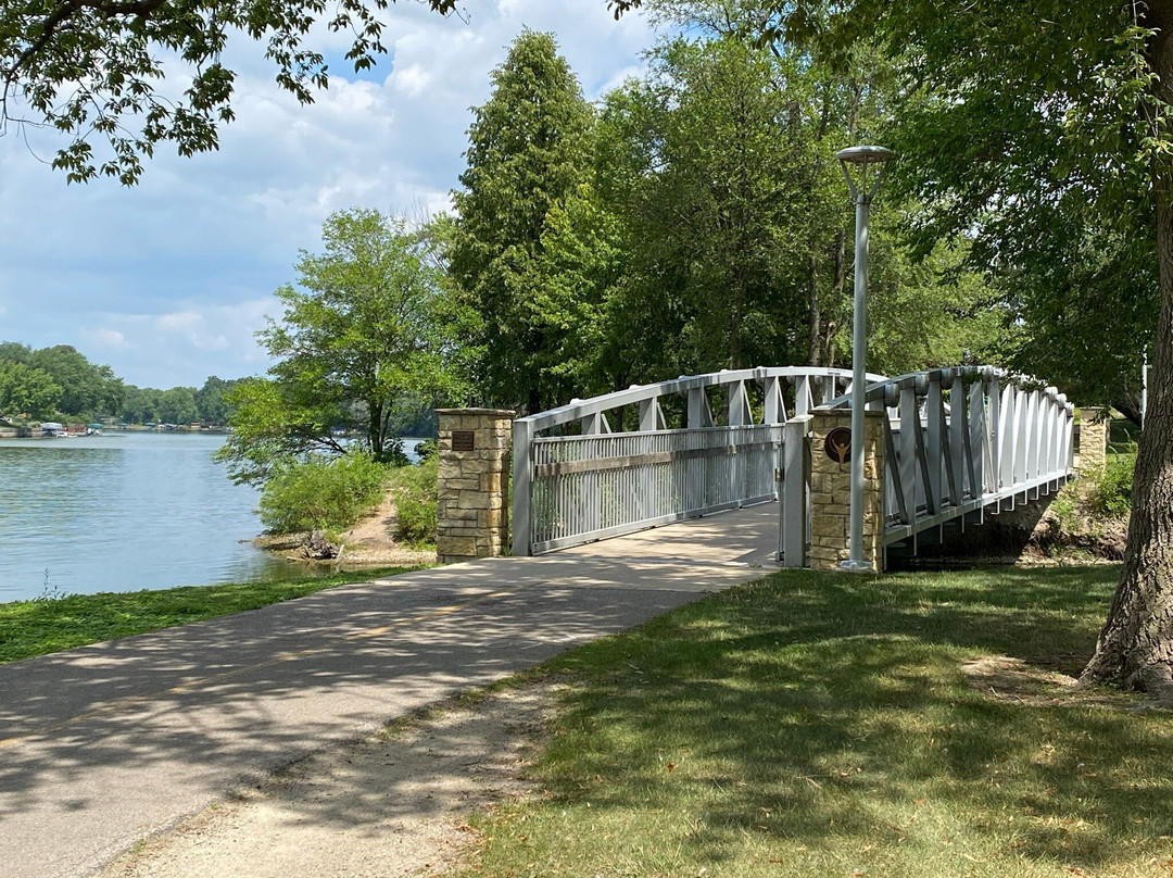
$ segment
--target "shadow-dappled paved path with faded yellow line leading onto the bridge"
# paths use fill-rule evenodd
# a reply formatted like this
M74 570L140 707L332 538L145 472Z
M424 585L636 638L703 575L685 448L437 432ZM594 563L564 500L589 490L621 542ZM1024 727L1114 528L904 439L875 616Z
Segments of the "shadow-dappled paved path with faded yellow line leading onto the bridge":
M778 506L0 666L0 878L79 878L250 779L772 565Z

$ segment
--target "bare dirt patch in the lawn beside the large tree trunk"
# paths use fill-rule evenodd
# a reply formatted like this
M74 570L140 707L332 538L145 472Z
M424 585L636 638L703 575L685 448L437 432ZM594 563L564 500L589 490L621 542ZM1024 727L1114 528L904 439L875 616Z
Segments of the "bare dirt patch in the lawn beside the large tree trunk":
M1008 655L988 655L961 666L967 682L977 691L997 701L1010 701L1032 707L1084 704L1143 710L1153 707L1148 701L1127 693L1083 687L1076 677L1058 670L1030 664Z

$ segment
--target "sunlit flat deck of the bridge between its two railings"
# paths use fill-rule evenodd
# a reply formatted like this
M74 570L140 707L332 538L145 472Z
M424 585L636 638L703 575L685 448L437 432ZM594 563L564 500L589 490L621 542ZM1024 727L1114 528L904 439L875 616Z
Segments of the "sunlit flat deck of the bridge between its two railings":
M777 568L777 552L778 504L765 502L551 552L547 558L671 559Z

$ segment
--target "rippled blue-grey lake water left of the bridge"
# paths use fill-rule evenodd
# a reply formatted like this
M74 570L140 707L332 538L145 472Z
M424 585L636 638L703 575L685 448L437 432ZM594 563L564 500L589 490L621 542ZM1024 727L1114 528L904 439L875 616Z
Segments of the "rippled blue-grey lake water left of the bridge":
M406 440L408 450L414 441ZM223 435L111 431L0 440L0 602L305 576L252 547L257 492L211 453Z

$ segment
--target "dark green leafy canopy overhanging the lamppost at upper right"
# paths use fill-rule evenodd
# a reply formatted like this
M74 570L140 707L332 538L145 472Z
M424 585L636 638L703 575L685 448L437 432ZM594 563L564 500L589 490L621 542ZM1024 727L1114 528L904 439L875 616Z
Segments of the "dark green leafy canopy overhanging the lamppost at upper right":
M1158 308L1152 168L1173 150L1169 110L1151 89L1144 7L976 0L945 15L935 0L612 4L639 5L845 73L877 47L895 81L849 140L900 156L879 210L915 205L891 228L909 239L908 258L931 264L955 241L967 255L958 268L997 293L1010 365L1080 399L1135 407Z

